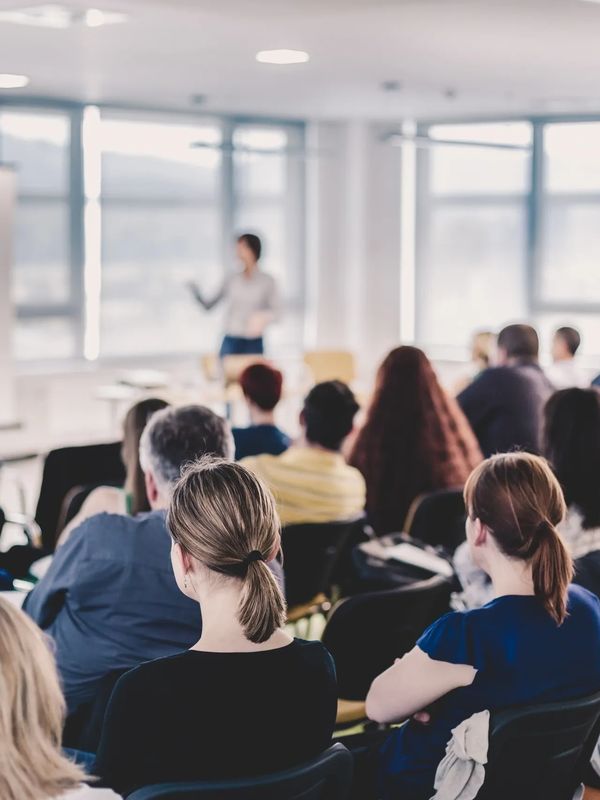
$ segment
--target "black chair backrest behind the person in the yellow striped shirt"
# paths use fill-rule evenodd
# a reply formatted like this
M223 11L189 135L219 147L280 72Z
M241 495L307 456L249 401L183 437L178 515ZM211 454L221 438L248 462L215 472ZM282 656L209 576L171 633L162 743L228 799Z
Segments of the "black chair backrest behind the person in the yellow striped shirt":
M287 525L281 532L285 593L289 606L310 602L315 595L329 595L346 544L356 543L364 519Z

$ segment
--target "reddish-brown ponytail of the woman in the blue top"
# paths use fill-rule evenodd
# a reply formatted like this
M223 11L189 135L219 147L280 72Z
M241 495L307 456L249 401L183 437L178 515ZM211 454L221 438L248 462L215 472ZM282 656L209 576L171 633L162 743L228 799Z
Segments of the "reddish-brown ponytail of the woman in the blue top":
M543 520L538 535L531 559L534 591L552 619L561 625L567 616L567 587L573 580L573 561L551 522Z

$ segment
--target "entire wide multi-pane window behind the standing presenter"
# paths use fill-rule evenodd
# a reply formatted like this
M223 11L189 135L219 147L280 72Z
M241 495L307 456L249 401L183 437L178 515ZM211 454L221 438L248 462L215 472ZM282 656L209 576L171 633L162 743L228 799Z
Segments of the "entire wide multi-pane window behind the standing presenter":
M234 236L264 239L301 345L302 126L109 109L0 106L18 171L13 297L19 359L214 351Z

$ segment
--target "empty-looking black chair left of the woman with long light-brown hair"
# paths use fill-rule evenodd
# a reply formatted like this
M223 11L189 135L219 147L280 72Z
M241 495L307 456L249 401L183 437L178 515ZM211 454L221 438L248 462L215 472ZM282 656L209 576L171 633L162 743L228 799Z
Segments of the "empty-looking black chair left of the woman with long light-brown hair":
M53 550L56 545L60 512L70 489L88 484L122 486L124 482L120 442L62 447L48 453L35 512L44 548Z

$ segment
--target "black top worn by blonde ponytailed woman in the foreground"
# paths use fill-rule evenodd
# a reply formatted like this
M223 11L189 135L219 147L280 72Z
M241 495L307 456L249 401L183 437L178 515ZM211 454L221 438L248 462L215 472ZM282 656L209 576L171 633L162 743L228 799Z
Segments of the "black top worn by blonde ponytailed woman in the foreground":
M125 795L153 783L287 769L329 746L336 705L333 659L320 642L189 650L119 680L92 771Z

